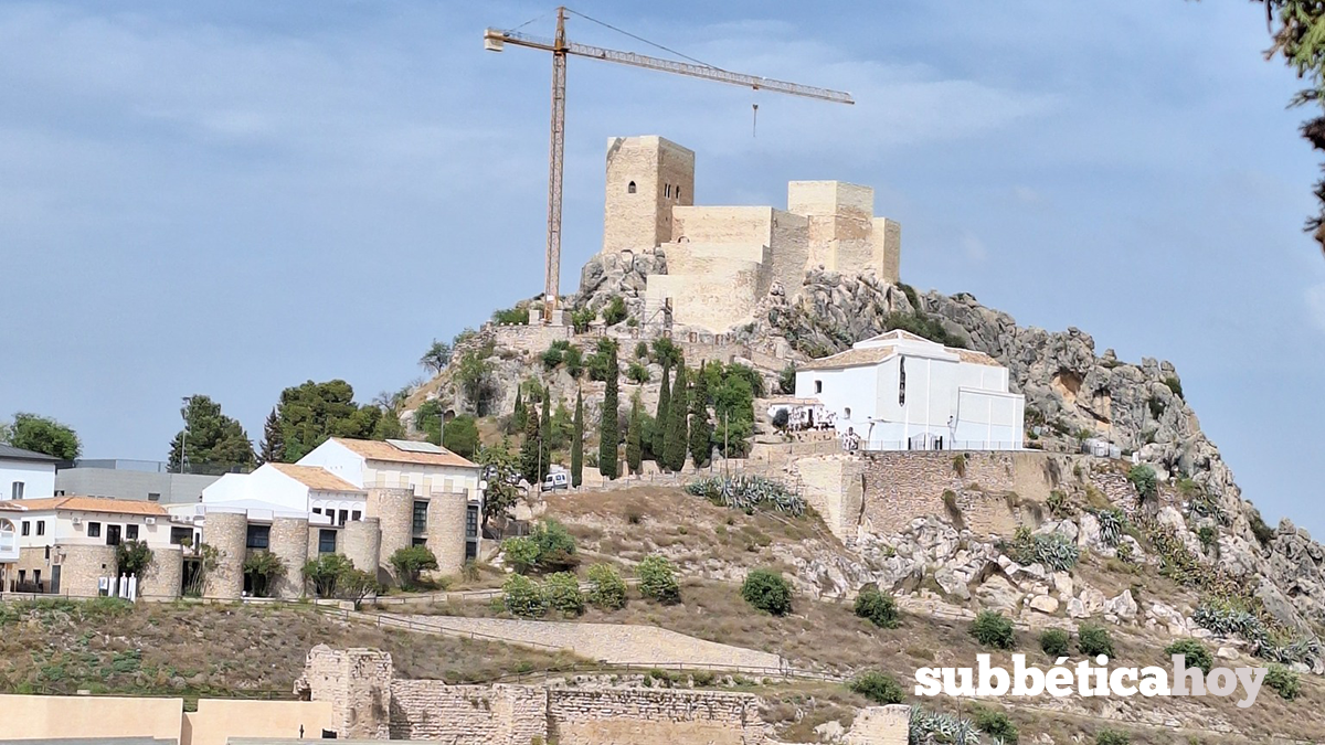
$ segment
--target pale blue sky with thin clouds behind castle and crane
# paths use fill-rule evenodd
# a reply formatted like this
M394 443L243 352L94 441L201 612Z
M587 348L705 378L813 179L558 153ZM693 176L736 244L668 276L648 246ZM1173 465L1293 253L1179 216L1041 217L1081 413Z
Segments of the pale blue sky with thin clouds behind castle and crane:
M256 439L281 388L344 378L368 400L539 292L549 60L481 32L550 9L0 4L0 412L57 416L91 457L163 459L201 392ZM694 148L705 204L871 184L906 281L1171 359L1246 494L1325 534L1325 260L1300 231L1317 168L1260 7L576 9L859 105L572 60L563 288L600 241L608 137Z

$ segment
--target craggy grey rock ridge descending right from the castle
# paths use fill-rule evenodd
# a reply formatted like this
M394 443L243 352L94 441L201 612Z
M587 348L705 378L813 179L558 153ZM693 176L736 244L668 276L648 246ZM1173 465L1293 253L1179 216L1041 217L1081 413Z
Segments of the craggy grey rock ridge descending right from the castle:
M1012 388L1026 395L1027 424L1040 435L1032 441L1045 449L1075 451L1077 433L1088 432L1136 452L1161 481L1183 479L1185 488L1202 494L1207 509L1219 516L1219 566L1251 586L1265 578L1276 593L1263 591L1263 601L1285 618L1288 608L1296 611L1292 615L1300 618L1295 626L1302 618L1325 622L1325 549L1287 521L1277 532L1261 528L1257 538L1252 525L1260 516L1242 498L1219 449L1200 431L1170 362L1145 358L1133 365L1120 361L1113 350L1097 354L1085 331L1018 326L1007 313L984 308L966 293L921 296L908 290L872 276L808 272L799 292L771 298L765 317L747 334L782 338L807 357L820 357L888 330L890 314L918 310L929 322L942 325L950 339L1007 366ZM1203 554L1195 532L1181 513L1173 513L1163 517L1170 522L1177 517L1178 538ZM1093 518L1083 518L1079 529L1079 545L1100 547ZM1267 532L1272 533L1268 540ZM1069 602L1068 612L1072 610Z

